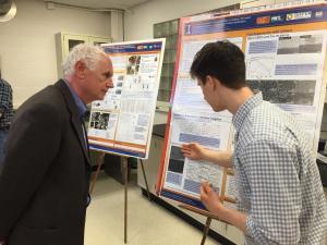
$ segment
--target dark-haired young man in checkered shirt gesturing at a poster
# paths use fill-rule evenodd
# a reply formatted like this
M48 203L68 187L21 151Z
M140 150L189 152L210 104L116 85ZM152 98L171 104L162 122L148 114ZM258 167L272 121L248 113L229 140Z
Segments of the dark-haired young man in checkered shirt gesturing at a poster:
M316 159L292 115L254 95L245 83L243 52L229 41L205 45L191 75L214 111L233 114L234 151L192 143L185 157L234 169L239 210L226 208L208 183L206 208L245 234L246 244L325 244L327 204Z

